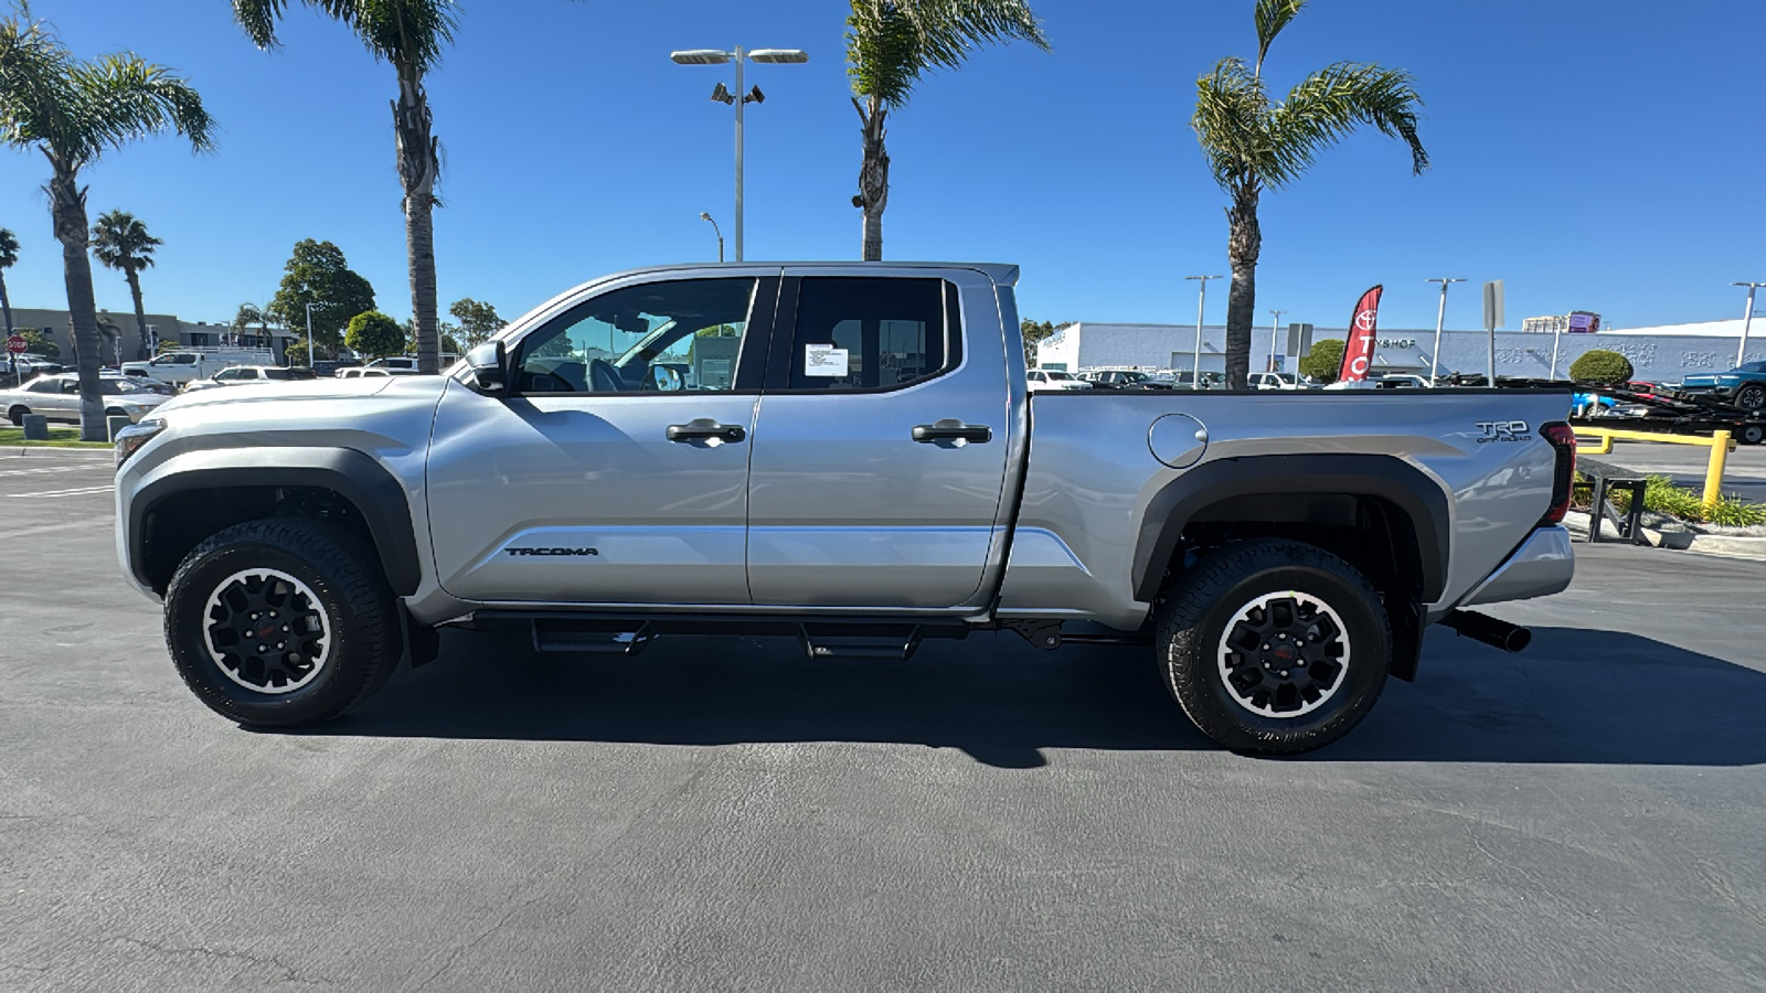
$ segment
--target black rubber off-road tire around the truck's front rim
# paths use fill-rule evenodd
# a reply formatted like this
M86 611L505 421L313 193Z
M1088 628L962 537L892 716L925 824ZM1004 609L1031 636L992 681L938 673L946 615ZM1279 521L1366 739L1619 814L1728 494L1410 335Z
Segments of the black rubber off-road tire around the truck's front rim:
M247 686L249 661L230 673L212 654L219 638L212 633L215 613L228 611L219 604L223 590L258 571L304 587L298 603L314 624L325 625L327 638L313 641L323 647L321 663L300 677L307 682L284 678L274 686L267 677L265 689L254 689ZM362 541L348 528L311 518L245 521L191 550L166 588L166 647L198 700L253 728L330 721L380 689L403 652L392 590ZM265 664L258 663L256 671L263 673ZM298 686L286 689L290 684Z

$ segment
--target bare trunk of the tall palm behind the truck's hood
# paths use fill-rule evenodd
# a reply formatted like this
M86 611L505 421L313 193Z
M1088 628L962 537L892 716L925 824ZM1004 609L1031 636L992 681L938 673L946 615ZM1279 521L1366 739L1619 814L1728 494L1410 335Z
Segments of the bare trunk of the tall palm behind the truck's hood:
M411 327L417 332L417 371L442 371L436 327L434 186L442 170L433 115L424 81L411 65L399 65L399 99L392 104L399 140L399 182L404 184L404 251L411 272Z

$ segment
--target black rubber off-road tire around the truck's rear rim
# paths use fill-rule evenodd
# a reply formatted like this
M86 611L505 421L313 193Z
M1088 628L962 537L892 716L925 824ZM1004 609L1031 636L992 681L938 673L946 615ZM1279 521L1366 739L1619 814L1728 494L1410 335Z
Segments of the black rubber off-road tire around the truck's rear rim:
M1328 691L1316 686L1303 693L1316 693L1317 701L1296 701L1294 691L1282 691L1286 700L1263 696L1264 710L1277 707L1312 707L1294 716L1270 716L1257 712L1254 700L1245 691L1234 689L1227 673L1222 671L1227 656L1227 625L1243 618L1257 617L1243 613L1256 610L1252 604L1259 597L1275 597L1268 608L1287 610L1298 599L1312 617L1324 604L1328 611L1340 618L1340 636L1346 648L1346 661ZM1263 615L1266 620L1272 615ZM1296 618L1294 627L1305 627L1303 611L1287 611ZM1256 539L1227 544L1203 555L1194 565L1180 572L1160 595L1157 604L1157 633L1153 645L1158 650L1160 670L1166 686L1176 698L1183 712L1196 726L1215 742L1243 753L1256 754L1294 754L1328 746L1349 733L1379 700L1385 689L1386 673L1392 668L1392 624L1386 617L1379 594L1355 567L1335 555L1298 541ZM1245 622L1250 624L1249 620ZM1335 622L1310 627L1305 638L1324 638ZM1234 627L1247 631L1249 627ZM1298 636L1296 636L1298 638ZM1294 641L1298 643L1298 641ZM1257 647L1252 647L1256 650ZM1330 648L1330 645L1326 645ZM1309 648L1317 652L1317 648ZM1268 656L1264 656L1268 657ZM1280 664L1268 678L1280 675ZM1257 678L1263 663L1252 661L1245 668L1233 666L1238 678ZM1330 663L1319 670L1303 668L1291 663L1293 670L1330 673ZM1249 675L1247 675L1249 673ZM1300 678L1309 678L1296 675Z

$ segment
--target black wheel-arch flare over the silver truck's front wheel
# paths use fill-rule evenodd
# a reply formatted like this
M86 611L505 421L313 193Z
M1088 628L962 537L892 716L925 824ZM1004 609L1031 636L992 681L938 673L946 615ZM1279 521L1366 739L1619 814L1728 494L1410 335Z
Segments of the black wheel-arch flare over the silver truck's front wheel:
M277 514L341 518L371 544L394 594L417 590L422 569L404 488L355 449L251 452L245 465L178 468L147 482L129 500L129 567L164 594L205 537Z

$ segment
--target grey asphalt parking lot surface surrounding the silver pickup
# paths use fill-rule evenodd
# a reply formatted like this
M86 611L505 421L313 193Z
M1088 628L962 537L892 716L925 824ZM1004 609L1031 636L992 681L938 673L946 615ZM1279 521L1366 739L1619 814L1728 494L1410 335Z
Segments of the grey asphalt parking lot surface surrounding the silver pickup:
M1766 564L1577 546L1347 740L1213 749L1132 648L537 657L323 733L185 693L108 461L0 452L0 989L1766 986Z

